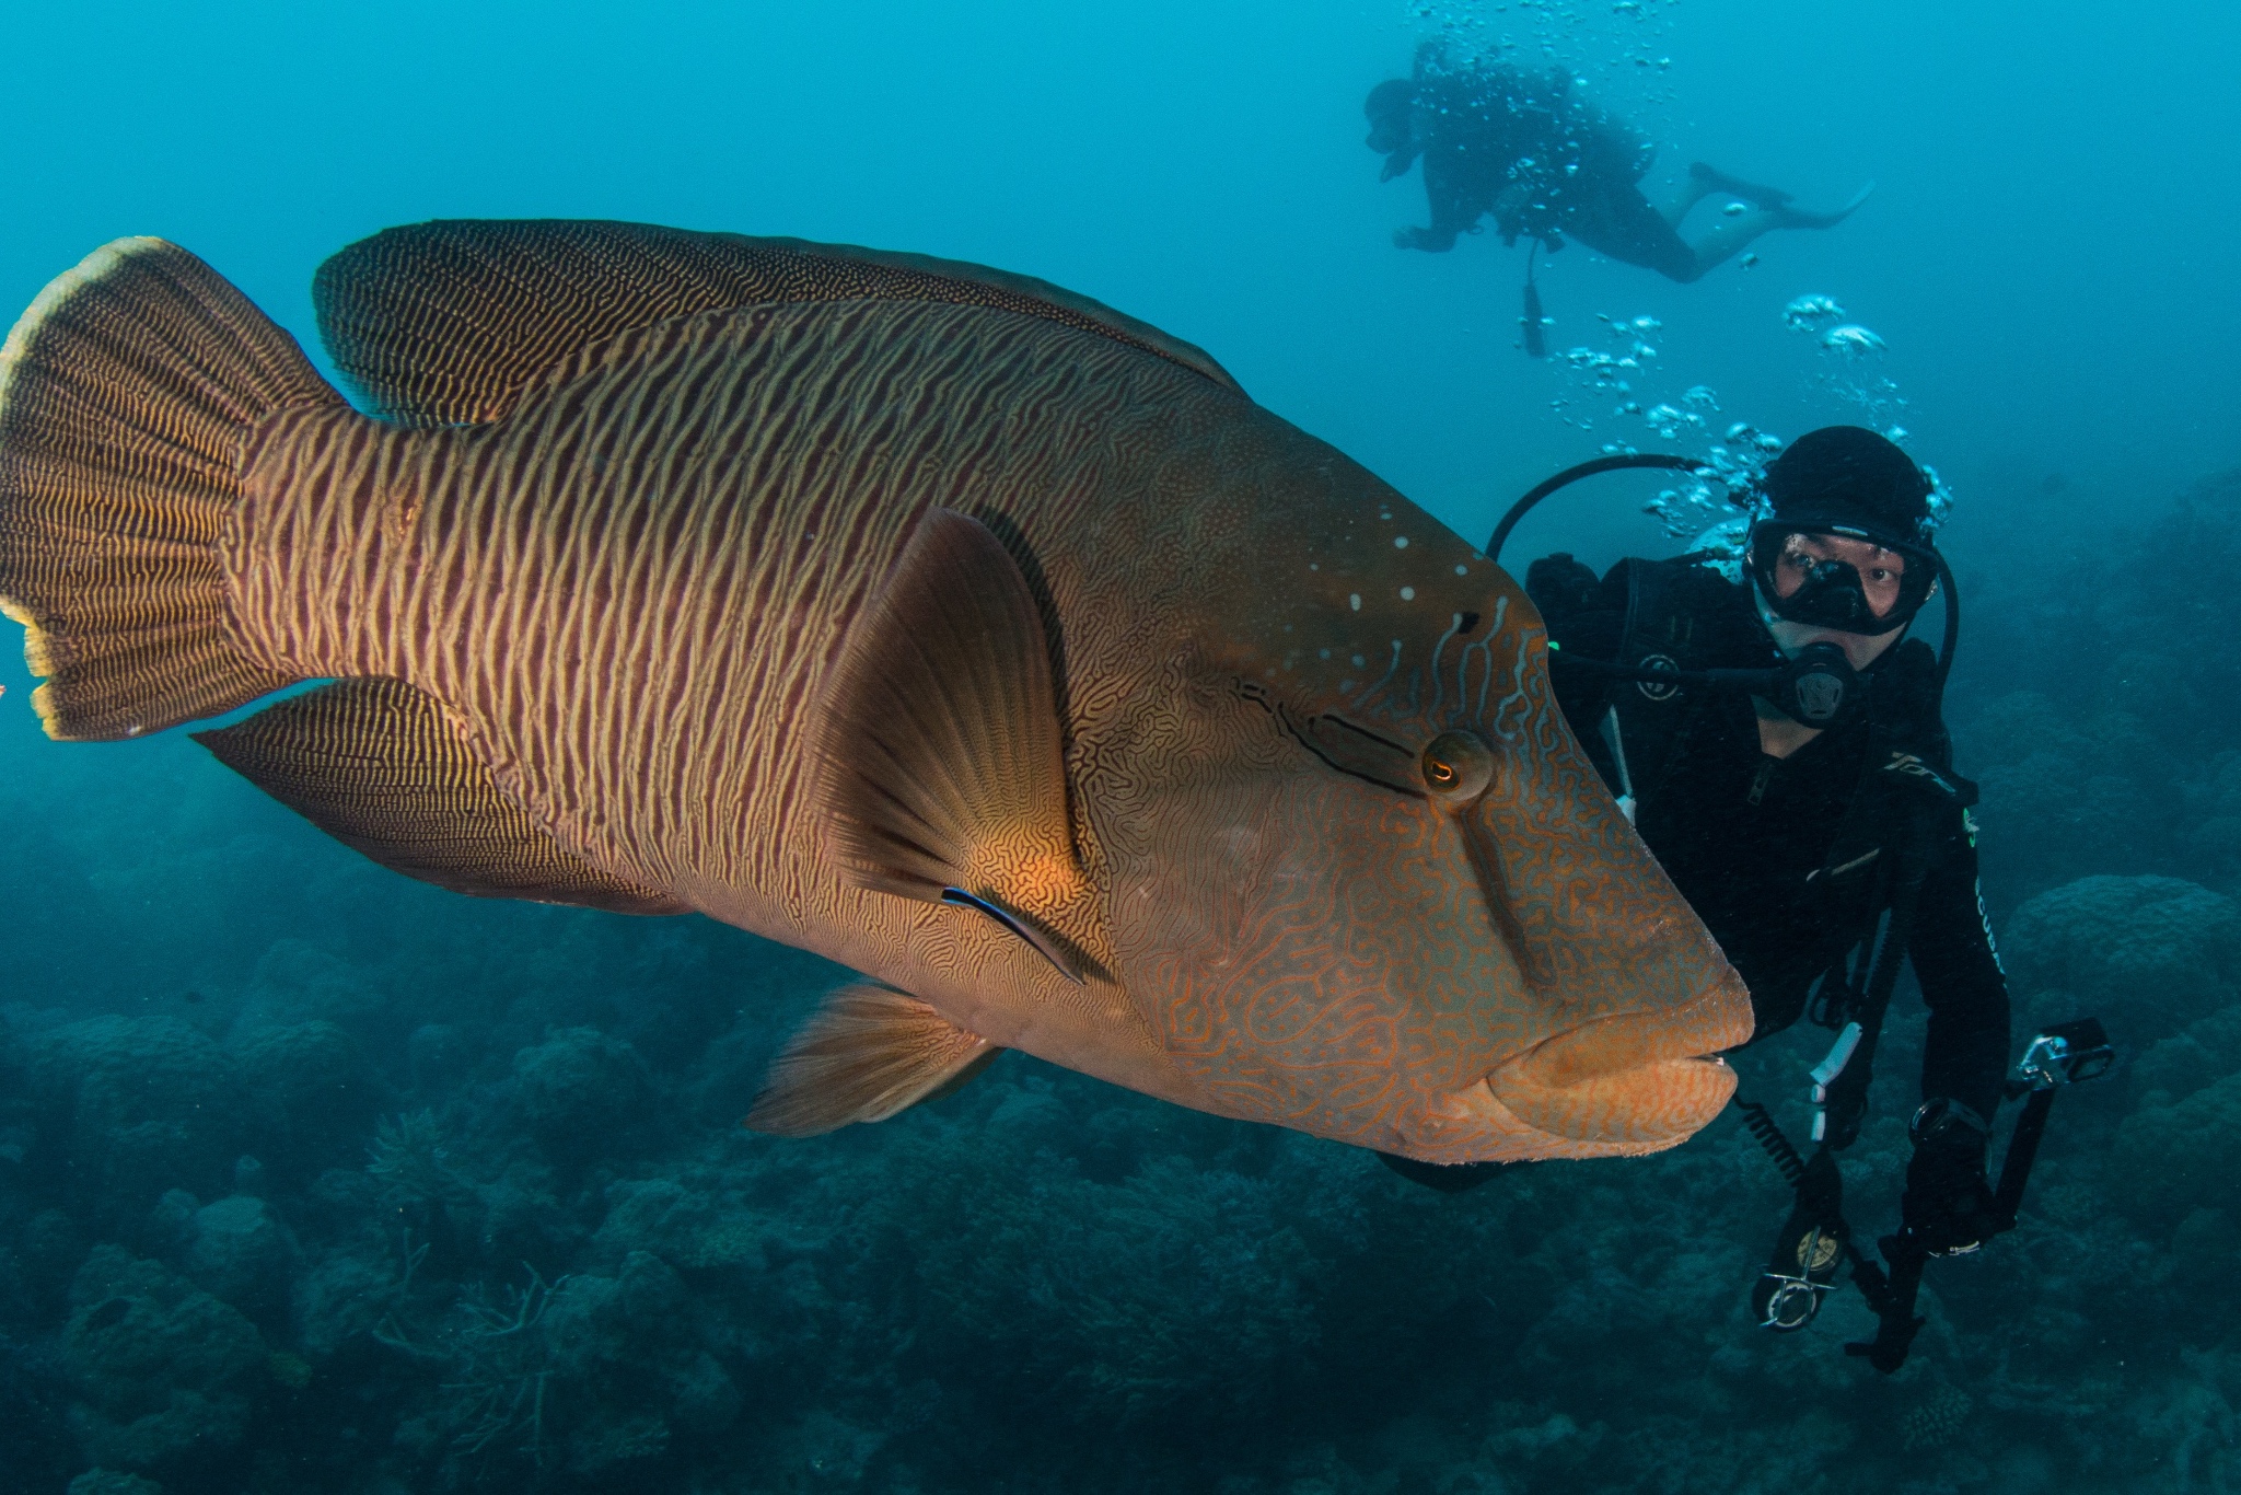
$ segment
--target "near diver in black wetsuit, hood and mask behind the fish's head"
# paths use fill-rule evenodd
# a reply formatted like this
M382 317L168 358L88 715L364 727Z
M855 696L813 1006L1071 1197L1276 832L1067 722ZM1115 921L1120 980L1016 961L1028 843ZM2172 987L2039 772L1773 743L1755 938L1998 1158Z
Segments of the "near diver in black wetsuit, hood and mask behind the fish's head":
M1986 1143L2008 1065L2008 984L1965 796L1925 793L1959 782L1936 657L1905 637L1934 592L1930 493L1898 446L1831 426L1768 464L1739 578L1705 551L1627 558L1600 578L1555 554L1533 563L1526 592L1549 625L1551 684L1573 735L1735 962L1752 1042L1808 1011L1829 1029L1880 1027L1880 1011L1867 1015L1878 923L1912 959L1930 1033L1903 1237L1947 1255L1999 1228ZM1793 686L1779 704L1656 679L1784 666L1775 679ZM1833 677L1847 693L1829 688ZM1912 928L1885 921L1900 903ZM1815 1141L1842 1148L1858 1134L1871 1062L1873 1038L1826 1083ZM1434 1188L1497 1168L1385 1161ZM1831 1190L1833 1172L1829 1161ZM1835 1246L1815 1231L1838 1217L1833 1199L1813 1206L1800 1192L1761 1278L1770 1327L1802 1327L1766 1313L1777 1275L1835 1280Z

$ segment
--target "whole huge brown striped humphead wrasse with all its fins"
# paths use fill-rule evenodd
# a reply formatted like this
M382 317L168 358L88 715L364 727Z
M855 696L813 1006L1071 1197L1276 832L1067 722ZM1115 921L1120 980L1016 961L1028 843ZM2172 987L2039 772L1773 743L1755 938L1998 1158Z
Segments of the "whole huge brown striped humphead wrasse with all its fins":
M197 733L477 897L865 973L748 1125L1024 1049L1432 1163L1670 1148L1750 1036L1524 592L1203 352L1022 276L596 222L320 267L361 397L119 240L0 352L61 740Z

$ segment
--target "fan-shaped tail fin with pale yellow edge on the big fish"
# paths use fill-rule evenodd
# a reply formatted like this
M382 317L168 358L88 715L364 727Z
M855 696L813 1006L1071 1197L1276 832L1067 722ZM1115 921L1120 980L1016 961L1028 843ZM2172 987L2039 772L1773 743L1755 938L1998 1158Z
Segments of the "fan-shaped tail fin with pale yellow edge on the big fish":
M294 684L242 643L220 542L249 437L343 403L296 341L177 244L58 276L0 347L0 612L49 737L137 737Z

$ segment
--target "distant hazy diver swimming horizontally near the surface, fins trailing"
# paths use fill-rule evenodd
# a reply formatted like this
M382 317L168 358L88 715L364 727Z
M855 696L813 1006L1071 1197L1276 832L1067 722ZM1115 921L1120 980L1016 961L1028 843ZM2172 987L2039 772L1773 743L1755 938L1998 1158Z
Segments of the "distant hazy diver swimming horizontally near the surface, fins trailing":
M1569 69L1531 74L1484 58L1457 65L1436 40L1416 47L1410 78L1369 90L1363 112L1367 143L1385 157L1380 182L1423 161L1432 222L1394 233L1401 249L1445 253L1459 233L1477 233L1479 220L1493 215L1504 244L1526 238L1555 253L1575 238L1690 282L1770 229L1833 229L1867 199L1862 191L1835 213L1806 213L1779 188L1696 161L1679 188L1652 204L1638 184L1656 146L1582 99ZM1681 238L1690 208L1712 193L1752 206L1721 215L1694 240Z

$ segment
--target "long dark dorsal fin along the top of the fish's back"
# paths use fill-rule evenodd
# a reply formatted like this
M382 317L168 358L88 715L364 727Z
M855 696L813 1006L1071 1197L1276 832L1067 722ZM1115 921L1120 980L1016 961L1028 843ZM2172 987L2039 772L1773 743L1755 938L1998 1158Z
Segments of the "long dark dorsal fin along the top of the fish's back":
M634 327L800 300L943 300L1047 316L1206 374L1201 350L1044 280L926 256L571 220L439 220L343 249L311 282L318 334L374 415L495 421L538 374Z

